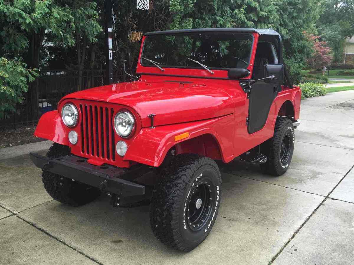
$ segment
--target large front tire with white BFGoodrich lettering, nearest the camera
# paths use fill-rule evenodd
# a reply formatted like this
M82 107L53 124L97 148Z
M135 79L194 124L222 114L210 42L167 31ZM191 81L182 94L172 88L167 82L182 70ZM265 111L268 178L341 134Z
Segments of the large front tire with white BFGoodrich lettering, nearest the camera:
M176 155L153 192L152 231L165 245L191 251L209 235L220 200L221 174L215 161L195 154Z

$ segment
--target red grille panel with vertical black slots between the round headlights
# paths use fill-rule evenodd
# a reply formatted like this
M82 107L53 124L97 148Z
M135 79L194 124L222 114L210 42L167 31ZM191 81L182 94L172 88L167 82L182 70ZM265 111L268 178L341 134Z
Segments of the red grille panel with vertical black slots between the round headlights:
M113 108L80 104L81 152L92 157L115 160Z

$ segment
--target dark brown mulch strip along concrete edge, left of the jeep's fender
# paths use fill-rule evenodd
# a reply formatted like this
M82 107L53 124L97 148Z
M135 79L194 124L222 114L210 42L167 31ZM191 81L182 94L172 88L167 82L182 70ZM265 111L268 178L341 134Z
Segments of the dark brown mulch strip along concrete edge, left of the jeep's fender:
M16 125L16 129L13 127L0 128L0 148L45 141L45 139L33 135L36 126L37 124L30 124Z

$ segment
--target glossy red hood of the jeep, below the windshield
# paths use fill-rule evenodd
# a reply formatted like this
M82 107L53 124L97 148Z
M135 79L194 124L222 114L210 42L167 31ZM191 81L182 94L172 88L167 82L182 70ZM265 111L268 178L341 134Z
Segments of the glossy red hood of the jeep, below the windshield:
M118 83L82 90L64 99L83 99L129 106L141 117L142 127L191 122L224 116L234 112L230 96L202 83L147 82ZM62 101L61 100L61 101Z

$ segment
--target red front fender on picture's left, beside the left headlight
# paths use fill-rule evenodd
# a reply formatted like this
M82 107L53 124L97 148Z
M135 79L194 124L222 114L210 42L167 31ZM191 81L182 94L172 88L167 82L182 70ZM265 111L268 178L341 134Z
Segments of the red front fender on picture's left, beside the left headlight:
M51 140L61 145L69 145L68 137L65 137L62 117L58 111L48 111L39 119L34 135Z

